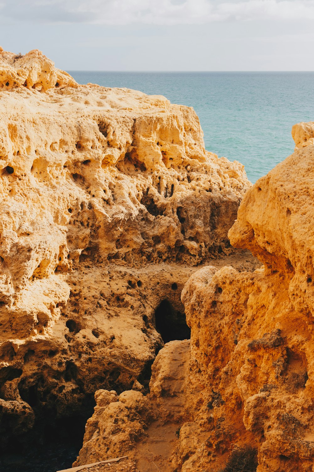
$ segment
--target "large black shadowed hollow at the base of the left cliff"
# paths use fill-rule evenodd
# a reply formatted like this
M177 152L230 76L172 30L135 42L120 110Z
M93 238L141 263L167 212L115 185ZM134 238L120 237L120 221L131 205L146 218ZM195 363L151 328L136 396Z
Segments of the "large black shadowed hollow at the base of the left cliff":
M75 367L74 363L67 363L67 378L75 377ZM86 395L80 409L66 410L60 417L56 415L56 408L51 405L56 403L56 393L60 397L64 395L65 385L60 385L55 393L52 393L51 387L45 386L42 376L33 382L30 385L22 380L18 388L21 398L35 412L34 427L17 438L13 436L15 440L9 438L5 454L8 454L9 459L12 457L14 462L10 460L8 464L3 464L1 472L63 470L64 467L72 466L81 449L85 424L95 406L93 395ZM71 388L71 385L69 387ZM76 397L77 392L74 388L72 391Z

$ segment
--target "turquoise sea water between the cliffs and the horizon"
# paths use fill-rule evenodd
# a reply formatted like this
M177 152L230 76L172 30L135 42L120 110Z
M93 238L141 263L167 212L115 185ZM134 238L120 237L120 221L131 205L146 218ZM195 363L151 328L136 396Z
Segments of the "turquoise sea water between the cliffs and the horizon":
M206 149L242 162L251 182L293 152L292 125L314 121L314 72L69 73L80 84L127 87L193 107Z

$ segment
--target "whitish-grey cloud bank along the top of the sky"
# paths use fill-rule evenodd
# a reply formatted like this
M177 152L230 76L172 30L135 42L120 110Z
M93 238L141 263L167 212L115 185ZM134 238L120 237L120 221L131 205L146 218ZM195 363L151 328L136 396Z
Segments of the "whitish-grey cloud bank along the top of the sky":
M192 25L313 20L314 0L2 0L0 17L46 23Z

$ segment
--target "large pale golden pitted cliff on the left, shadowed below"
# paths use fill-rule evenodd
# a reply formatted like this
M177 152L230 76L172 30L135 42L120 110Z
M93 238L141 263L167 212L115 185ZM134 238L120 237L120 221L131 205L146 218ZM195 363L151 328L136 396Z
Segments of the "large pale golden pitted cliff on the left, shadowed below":
M0 82L5 446L34 413L82 414L99 388L147 383L156 307L184 316L185 280L232 251L250 183L162 96L79 85L36 50L1 50Z

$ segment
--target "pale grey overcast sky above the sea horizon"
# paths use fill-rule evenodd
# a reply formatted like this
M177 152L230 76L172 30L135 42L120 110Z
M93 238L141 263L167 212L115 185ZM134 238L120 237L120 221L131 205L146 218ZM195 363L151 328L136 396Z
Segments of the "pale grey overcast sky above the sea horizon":
M65 70L314 70L314 0L0 0L0 45Z

